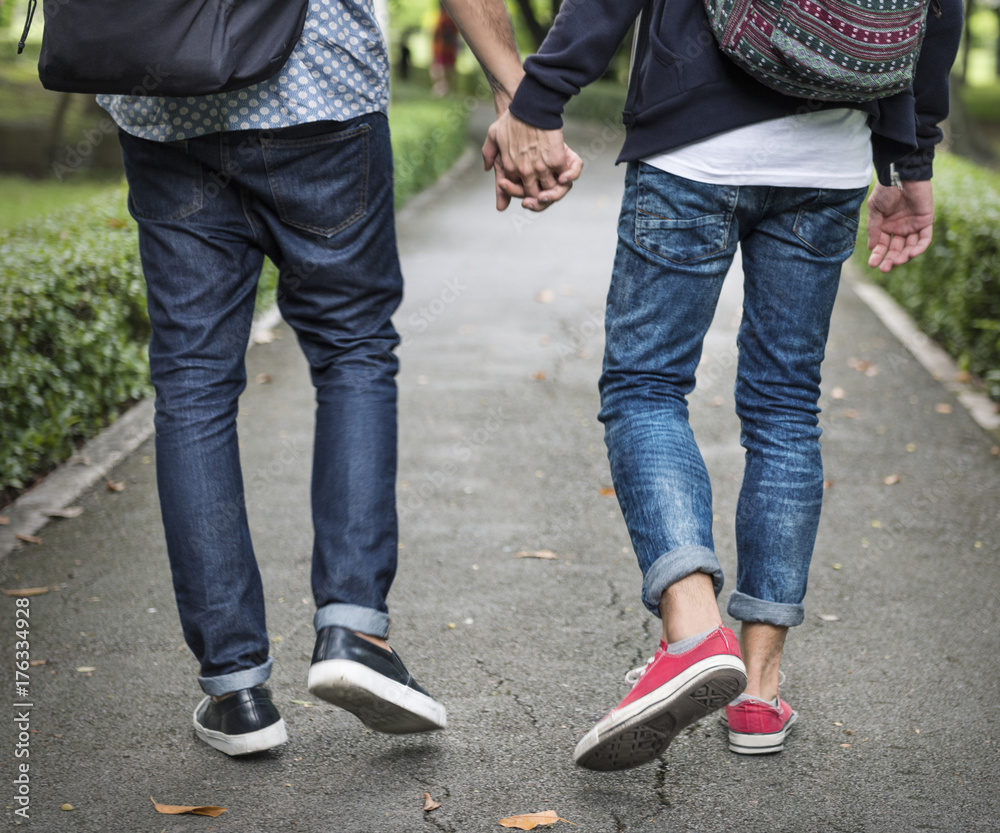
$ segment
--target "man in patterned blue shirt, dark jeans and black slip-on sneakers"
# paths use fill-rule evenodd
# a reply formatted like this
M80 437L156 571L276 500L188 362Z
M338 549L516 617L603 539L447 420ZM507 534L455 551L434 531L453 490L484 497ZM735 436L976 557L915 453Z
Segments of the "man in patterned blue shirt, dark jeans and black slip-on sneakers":
M522 71L502 0L449 3L498 112ZM185 638L205 697L199 738L229 755L287 739L236 435L257 278L316 388L309 689L382 732L445 710L386 642L396 570L402 293L386 119L389 61L369 0L317 0L281 72L197 98L102 97L121 128L152 322L157 481Z

